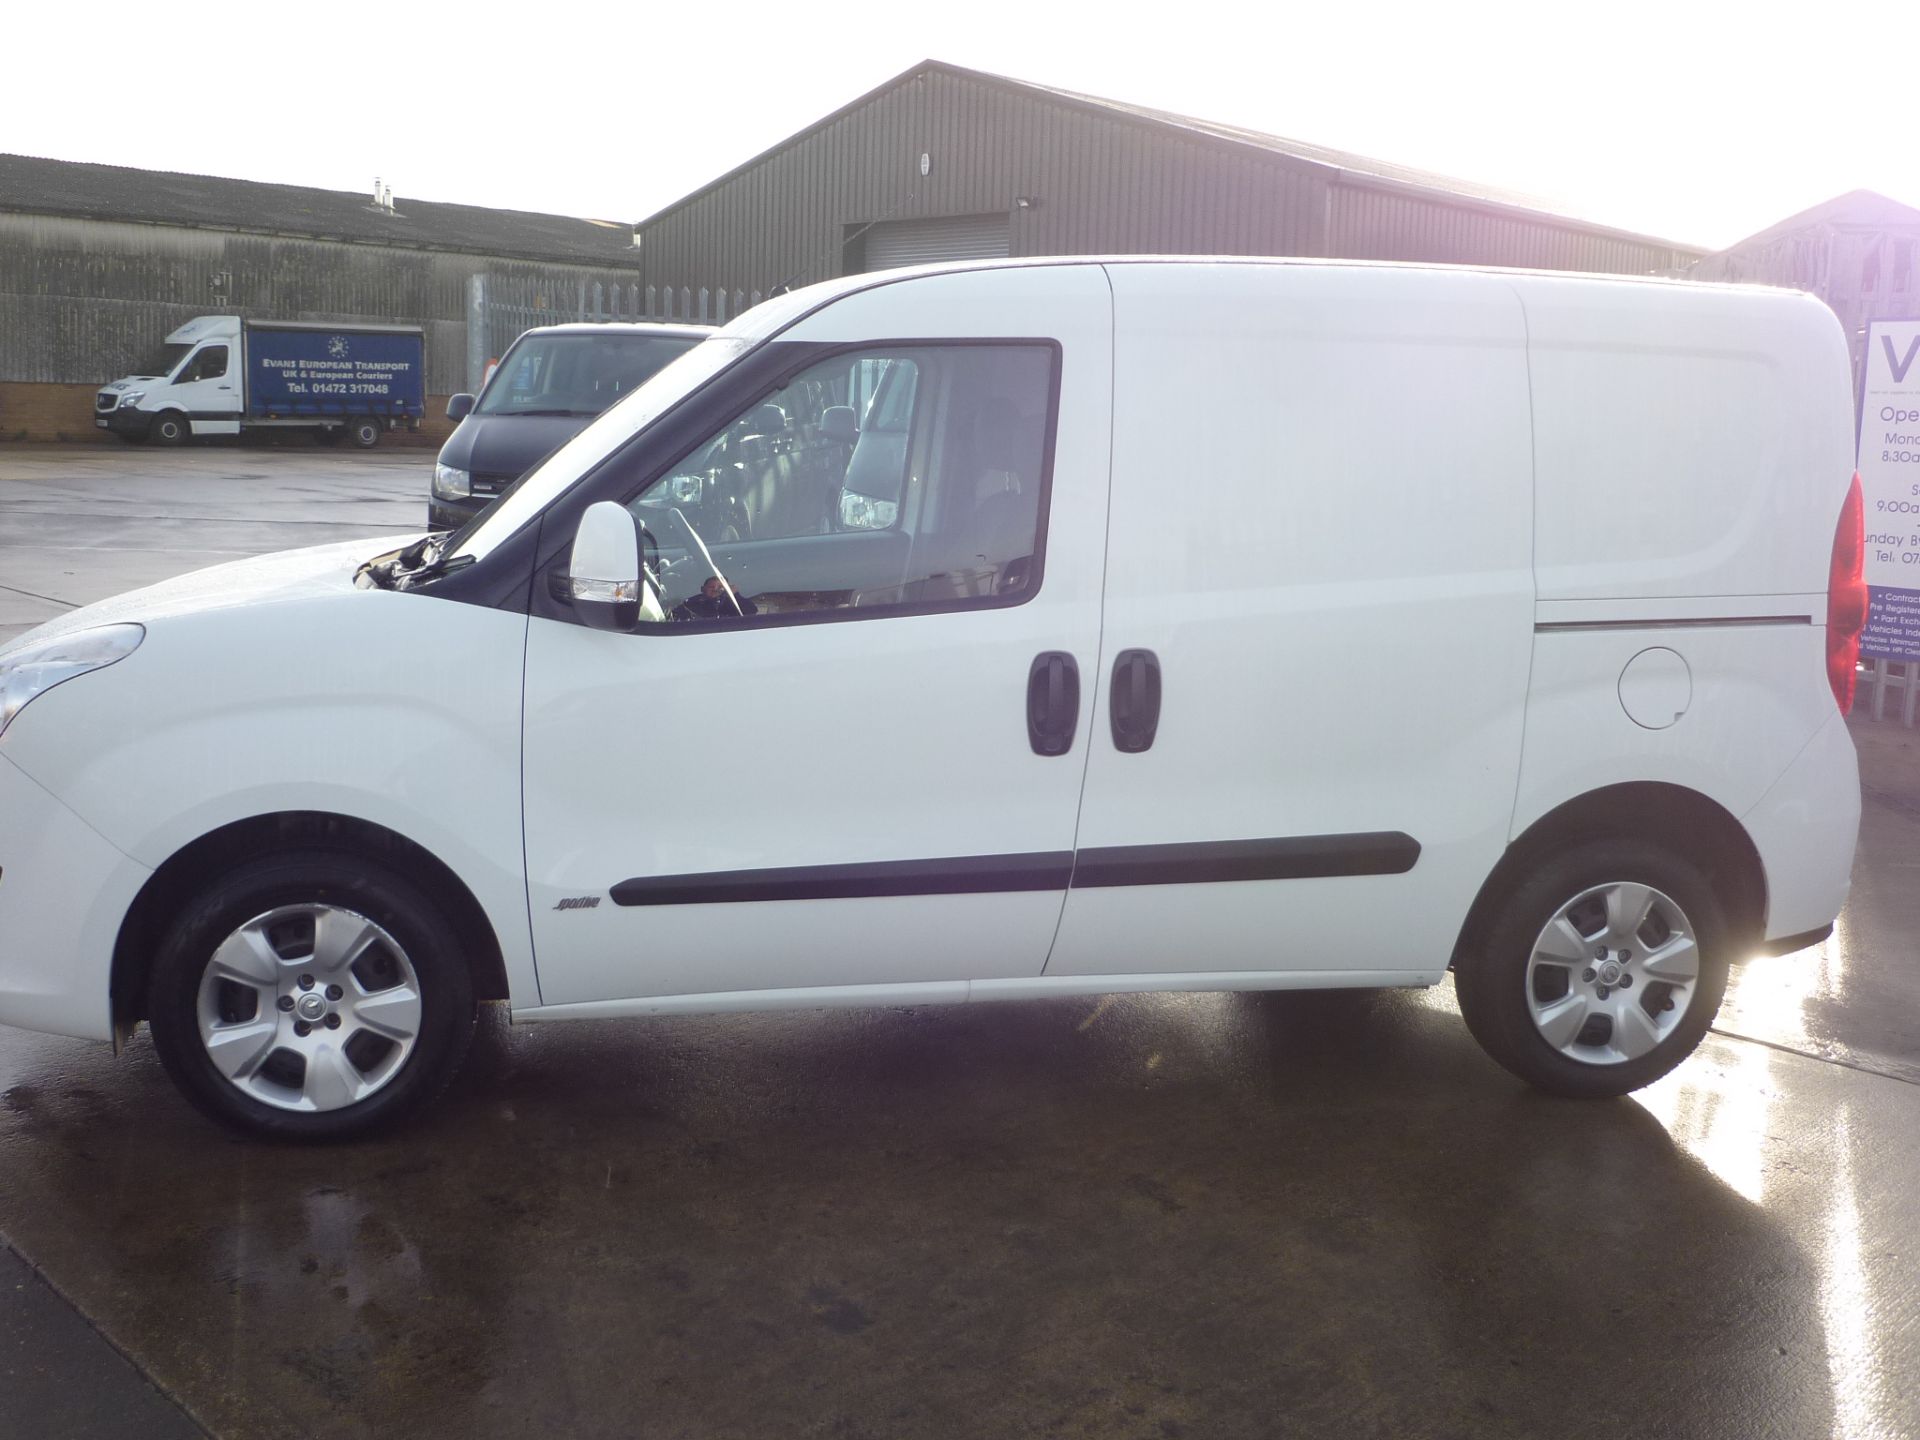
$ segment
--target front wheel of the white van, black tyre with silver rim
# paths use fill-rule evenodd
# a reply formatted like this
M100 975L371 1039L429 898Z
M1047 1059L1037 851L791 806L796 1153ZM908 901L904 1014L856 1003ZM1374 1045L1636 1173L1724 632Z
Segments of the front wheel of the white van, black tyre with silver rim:
M154 1046L202 1112L338 1140L432 1100L472 1037L472 977L419 887L355 854L238 866L173 922L148 985Z

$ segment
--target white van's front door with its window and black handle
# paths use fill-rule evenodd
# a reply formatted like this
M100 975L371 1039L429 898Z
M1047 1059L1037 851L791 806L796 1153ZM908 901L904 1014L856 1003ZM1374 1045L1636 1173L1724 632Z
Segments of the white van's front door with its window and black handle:
M591 630L534 576L545 1006L1041 973L1087 764L1110 319L1098 267L854 292L605 482L659 609Z

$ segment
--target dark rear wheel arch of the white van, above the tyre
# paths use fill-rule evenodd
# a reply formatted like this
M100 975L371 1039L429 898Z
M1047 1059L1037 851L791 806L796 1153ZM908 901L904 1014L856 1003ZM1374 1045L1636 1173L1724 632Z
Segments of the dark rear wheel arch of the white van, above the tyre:
M1747 828L1718 801L1684 785L1630 781L1576 795L1548 810L1494 866L1453 941L1448 968L1478 945L1500 900L1544 856L1596 839L1655 839L1695 862L1726 906L1745 954L1766 933L1766 868Z

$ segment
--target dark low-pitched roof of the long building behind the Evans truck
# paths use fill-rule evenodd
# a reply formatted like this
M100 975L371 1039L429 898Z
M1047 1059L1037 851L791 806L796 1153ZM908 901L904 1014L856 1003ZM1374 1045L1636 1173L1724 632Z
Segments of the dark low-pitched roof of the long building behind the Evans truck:
M394 207L384 209L372 202L371 190L313 190L303 184L136 171L36 156L0 156L0 211L190 225L534 261L634 259L632 230L624 223L447 205L407 196L396 196Z

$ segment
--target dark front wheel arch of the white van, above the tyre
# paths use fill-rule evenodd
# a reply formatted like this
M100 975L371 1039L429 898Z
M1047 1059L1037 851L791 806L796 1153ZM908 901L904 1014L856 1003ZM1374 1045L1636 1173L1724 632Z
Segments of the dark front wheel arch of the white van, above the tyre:
M374 856L445 906L472 972L476 1000L505 1000L499 937L472 891L432 851L371 820L324 810L252 816L211 829L175 851L140 887L113 943L109 995L115 1035L146 1018L146 979L167 925L209 879L276 851L330 849Z

